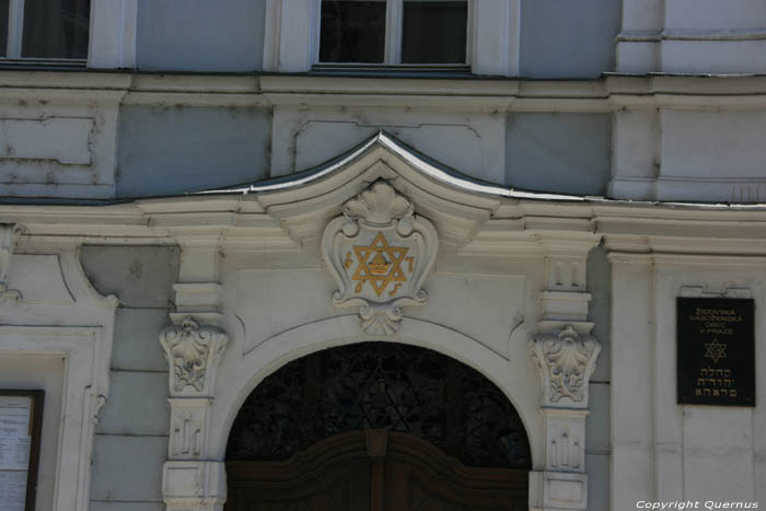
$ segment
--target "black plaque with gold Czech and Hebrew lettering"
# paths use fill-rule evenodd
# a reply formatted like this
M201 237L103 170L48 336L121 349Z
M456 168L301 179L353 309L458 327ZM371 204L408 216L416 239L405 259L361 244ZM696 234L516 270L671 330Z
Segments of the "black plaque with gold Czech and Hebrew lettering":
M755 305L678 298L678 403L755 406Z

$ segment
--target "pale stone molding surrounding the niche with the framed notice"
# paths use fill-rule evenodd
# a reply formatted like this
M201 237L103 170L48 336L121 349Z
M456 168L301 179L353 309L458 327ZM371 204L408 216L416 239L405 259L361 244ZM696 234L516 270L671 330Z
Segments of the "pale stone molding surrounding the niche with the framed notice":
M2 258L8 265L12 244L5 242L18 230L2 225ZM16 260L25 257L33 268L13 274L20 294L51 297L20 300L13 306L0 307L0 352L63 359L60 407L66 410L66 420L60 422L56 437L58 455L50 465L51 506L60 511L85 511L91 495L95 426L109 395L109 357L118 300L93 288L74 246L59 249L53 254L15 254ZM8 266L3 269L4 279ZM55 291L59 284L67 292L63 300ZM58 420L46 420L49 419Z

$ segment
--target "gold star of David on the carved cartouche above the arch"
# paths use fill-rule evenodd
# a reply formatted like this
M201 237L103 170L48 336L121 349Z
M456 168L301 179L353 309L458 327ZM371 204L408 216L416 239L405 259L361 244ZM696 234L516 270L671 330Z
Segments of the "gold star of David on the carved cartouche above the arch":
M364 282L370 282L375 294L383 294L385 288L391 282L406 282L402 270L402 262L407 255L407 247L390 246L382 232L379 232L369 246L355 246L353 253L357 255L359 265L353 272L351 280L356 280L356 291L362 289ZM394 291L402 284L395 284Z

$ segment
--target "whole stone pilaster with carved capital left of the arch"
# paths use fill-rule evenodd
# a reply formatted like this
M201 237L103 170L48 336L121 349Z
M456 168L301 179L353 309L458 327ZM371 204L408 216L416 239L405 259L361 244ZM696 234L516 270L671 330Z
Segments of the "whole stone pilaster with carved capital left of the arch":
M162 491L169 511L221 510L225 502L225 471L211 461L210 405L216 368L229 336L220 327L222 288L218 279L217 239L184 236L179 281L173 286L175 311L160 334L170 364L171 405L167 462Z

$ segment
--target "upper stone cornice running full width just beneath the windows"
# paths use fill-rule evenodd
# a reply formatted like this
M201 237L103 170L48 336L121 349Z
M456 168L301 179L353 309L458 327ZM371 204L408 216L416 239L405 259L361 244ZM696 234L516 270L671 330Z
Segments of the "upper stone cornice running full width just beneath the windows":
M198 106L390 106L610 112L619 107L766 106L766 76L620 76L599 80L422 79L312 74L0 72L0 101Z

